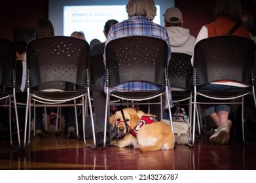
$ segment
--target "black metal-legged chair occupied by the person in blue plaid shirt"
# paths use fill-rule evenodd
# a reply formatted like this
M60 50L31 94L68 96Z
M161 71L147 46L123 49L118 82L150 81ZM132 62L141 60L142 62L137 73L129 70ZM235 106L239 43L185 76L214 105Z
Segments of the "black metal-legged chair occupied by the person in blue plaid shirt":
M103 148L105 148L106 143L110 105L160 105L162 120L164 108L162 96L164 95L169 114L172 116L168 96L168 46L165 41L154 37L122 37L108 42L105 48L105 57L107 100ZM131 81L158 84L162 86L162 90L150 92L146 90L144 92L109 92L109 88ZM110 97L120 99L122 102L109 102ZM159 100L156 102L149 101L157 98Z

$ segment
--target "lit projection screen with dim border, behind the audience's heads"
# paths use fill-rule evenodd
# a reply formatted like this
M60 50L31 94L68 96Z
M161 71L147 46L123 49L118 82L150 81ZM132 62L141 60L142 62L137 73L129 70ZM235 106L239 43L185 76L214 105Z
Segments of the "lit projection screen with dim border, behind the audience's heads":
M174 7L174 0L158 0L156 3L156 24L164 24L166 8ZM49 0L48 18L54 26L55 35L69 36L73 31L84 32L86 41L92 39L105 41L103 27L105 22L115 19L118 22L128 18L127 0Z

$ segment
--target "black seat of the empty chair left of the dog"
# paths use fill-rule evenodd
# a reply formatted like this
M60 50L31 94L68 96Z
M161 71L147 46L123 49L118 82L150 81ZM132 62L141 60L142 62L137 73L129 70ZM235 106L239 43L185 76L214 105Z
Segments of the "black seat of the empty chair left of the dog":
M33 97L41 97L45 99L51 100L67 100L71 98L76 98L81 95L84 95L82 91L75 91L75 92L33 92Z

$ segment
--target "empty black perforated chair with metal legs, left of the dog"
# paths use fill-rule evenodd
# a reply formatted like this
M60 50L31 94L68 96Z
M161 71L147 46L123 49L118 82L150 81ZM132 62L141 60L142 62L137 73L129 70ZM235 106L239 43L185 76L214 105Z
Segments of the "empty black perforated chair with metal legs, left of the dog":
M31 122L31 107L75 107L77 138L79 129L77 107L82 108L83 139L87 102L90 103L90 47L88 42L74 37L55 36L36 39L27 45L27 108L26 124ZM94 120L91 115L92 131ZM27 125L26 125L27 126ZM25 129L25 135L27 128ZM96 138L94 135L94 146ZM24 146L28 142L26 136Z

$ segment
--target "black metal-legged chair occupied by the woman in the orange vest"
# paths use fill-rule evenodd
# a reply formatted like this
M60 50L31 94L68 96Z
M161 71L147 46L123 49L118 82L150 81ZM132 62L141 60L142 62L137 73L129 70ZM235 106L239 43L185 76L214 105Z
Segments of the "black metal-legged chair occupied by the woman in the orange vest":
M255 42L238 36L219 36L203 39L194 47L194 109L192 146L194 146L196 105L209 104L200 102L198 95L208 99L230 100L230 103L242 105L242 134L244 135L244 96L253 95L256 107L253 65L255 61ZM198 90L198 86L219 80L231 80L248 86L247 90L212 91ZM240 101L232 99L241 99Z

